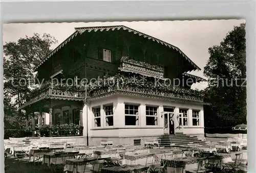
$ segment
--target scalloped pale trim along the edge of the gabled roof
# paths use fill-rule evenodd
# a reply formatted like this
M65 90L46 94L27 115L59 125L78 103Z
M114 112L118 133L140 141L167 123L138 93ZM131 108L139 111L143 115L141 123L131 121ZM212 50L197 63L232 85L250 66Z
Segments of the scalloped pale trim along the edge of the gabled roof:
M149 40L153 40L156 41L158 43L161 43L162 45L168 46L169 48L173 48L174 50L178 51L188 62L190 62L191 65L193 65L197 70L201 70L201 68L199 68L193 61L191 61L178 47L169 44L165 41L159 40L155 37L152 37L150 35L141 33L139 31L136 31L134 29L131 29L129 27L125 27L125 26L105 26L105 27L83 27L83 28L75 28L75 32L68 37L65 41L63 41L61 44L59 44L48 56L46 56L40 63L38 63L34 70L36 70L42 63L44 63L47 59L49 59L51 56L53 56L61 47L63 47L64 45L66 45L70 40L72 40L74 37L77 36L78 33L82 34L84 32L91 32L91 31L114 31L114 30L127 30L128 32L132 32L133 34L138 34L139 36L142 36L144 38L147 38Z

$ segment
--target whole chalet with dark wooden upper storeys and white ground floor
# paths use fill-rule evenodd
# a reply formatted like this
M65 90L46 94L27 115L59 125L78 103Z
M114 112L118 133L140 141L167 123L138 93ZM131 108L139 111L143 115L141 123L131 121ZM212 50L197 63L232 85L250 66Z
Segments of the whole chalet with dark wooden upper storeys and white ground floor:
M177 133L203 138L205 103L190 89L203 79L187 73L193 70L201 69L178 47L131 28L75 28L35 66L44 83L19 109L39 112L50 137L61 131L55 126L80 125L70 138L89 145Z

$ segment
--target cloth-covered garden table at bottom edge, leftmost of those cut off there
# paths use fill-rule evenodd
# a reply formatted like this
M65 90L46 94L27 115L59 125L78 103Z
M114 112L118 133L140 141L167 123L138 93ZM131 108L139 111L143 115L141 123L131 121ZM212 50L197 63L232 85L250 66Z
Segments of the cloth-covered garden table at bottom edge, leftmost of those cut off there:
M84 172L84 169L92 169L91 161L97 160L96 158L84 158L84 159L67 159L64 166L64 172ZM90 172L90 171L89 171Z

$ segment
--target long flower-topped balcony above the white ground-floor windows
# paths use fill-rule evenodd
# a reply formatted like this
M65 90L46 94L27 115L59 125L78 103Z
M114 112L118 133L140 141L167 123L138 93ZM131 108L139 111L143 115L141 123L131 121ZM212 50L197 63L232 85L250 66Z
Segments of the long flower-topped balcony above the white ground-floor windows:
M203 102L203 96L200 91L180 87L175 88L154 82L136 81L127 77L112 77L108 81L108 85L104 83L90 87L87 98L88 100L95 100L113 94L151 97L183 103L207 104Z

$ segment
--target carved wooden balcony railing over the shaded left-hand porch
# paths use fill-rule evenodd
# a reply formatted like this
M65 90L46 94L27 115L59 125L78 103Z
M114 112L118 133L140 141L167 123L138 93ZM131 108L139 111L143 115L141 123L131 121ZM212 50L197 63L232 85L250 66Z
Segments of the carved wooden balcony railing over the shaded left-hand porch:
M37 93L34 93L30 97L26 98L26 103L19 109L22 109L30 104L36 103L43 99L59 99L59 100L72 100L72 101L83 101L85 97L85 92L83 91L69 91L58 89L54 87L48 87L42 89Z

